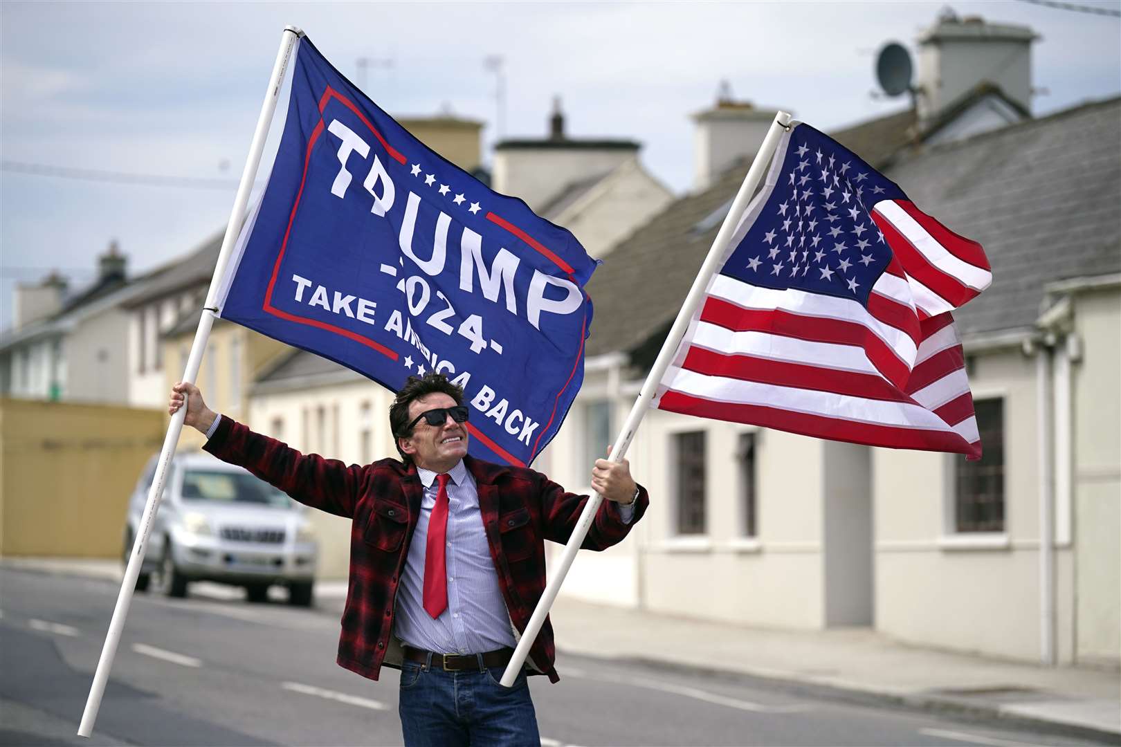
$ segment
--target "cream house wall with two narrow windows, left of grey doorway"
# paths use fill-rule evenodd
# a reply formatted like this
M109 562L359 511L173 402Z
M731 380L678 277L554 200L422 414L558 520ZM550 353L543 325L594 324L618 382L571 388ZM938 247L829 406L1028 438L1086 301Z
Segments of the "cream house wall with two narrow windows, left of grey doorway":
M744 625L822 627L821 442L757 431L759 516L752 540L741 529L735 458L739 435L750 428L658 410L647 414L642 428L651 440L647 471L654 502L643 548L648 608ZM685 536L676 529L673 437L696 430L706 433L706 532Z

